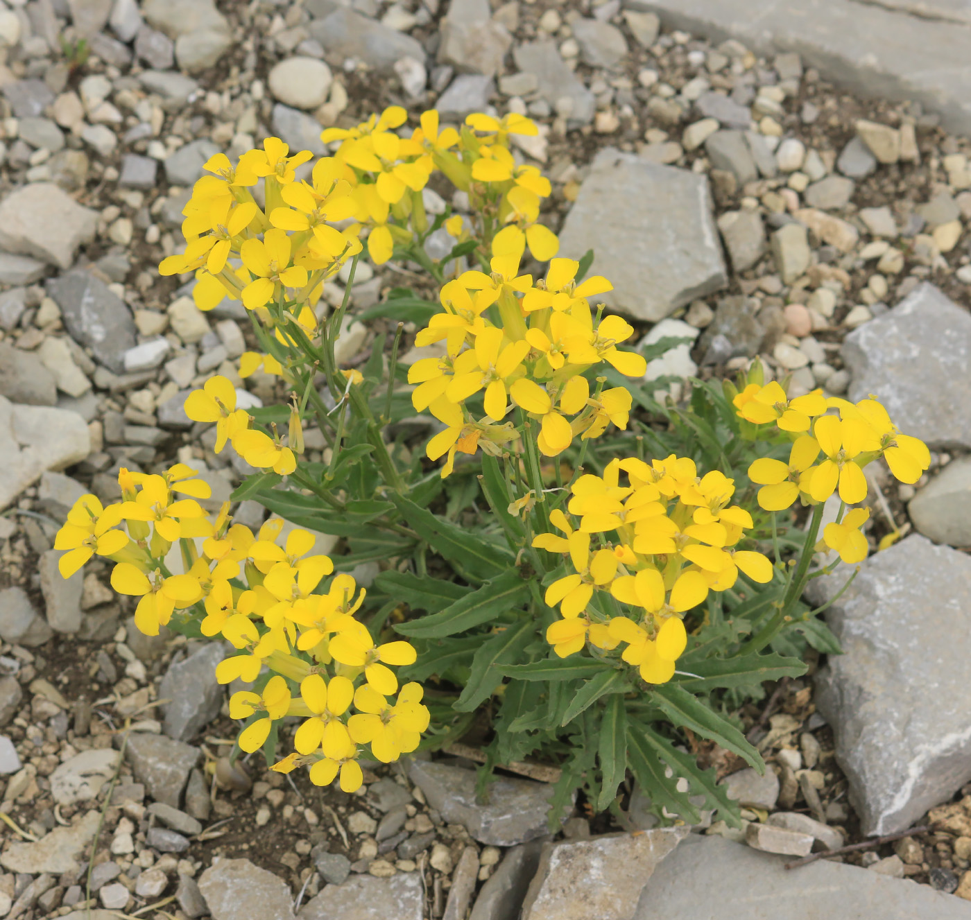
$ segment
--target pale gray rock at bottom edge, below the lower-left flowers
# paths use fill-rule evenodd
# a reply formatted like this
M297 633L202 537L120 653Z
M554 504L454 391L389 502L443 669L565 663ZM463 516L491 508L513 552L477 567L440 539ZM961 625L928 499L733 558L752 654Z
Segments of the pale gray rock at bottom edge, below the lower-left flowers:
M273 872L253 866L248 859L214 859L213 865L199 876L199 891L213 920L293 920L289 886Z

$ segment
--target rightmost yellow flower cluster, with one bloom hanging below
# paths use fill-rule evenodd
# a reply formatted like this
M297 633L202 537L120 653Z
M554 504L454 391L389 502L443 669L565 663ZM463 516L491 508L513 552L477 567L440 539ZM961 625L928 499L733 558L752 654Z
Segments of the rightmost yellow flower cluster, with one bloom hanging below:
M834 493L844 505L858 505L867 496L863 469L880 457L906 483L917 482L930 466L926 444L901 434L873 396L854 404L814 390L788 400L782 386L772 381L750 383L732 402L741 418L759 427L774 424L792 441L788 462L762 457L749 468L749 478L761 486L758 504L767 511L785 510L797 499L815 505ZM866 509L850 511L826 525L823 542L844 562L860 562L867 544L858 528L868 518Z

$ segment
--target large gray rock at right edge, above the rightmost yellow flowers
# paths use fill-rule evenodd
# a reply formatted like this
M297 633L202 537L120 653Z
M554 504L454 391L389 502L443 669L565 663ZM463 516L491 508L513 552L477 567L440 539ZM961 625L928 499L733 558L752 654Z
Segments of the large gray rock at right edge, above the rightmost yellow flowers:
M875 393L904 434L971 447L971 316L933 284L854 329L843 361L851 400Z

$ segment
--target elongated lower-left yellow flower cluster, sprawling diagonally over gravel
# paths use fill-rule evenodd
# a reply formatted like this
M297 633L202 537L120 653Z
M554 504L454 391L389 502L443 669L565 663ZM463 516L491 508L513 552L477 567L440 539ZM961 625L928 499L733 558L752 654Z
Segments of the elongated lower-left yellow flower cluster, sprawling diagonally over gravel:
M415 750L428 726L421 686L399 691L388 667L412 664L415 649L406 641L375 643L354 618L364 589L351 575L324 582L334 566L312 553L312 534L291 530L281 545L283 520L267 521L254 535L231 523L228 503L210 520L197 501L210 497L210 487L194 475L183 464L163 475L122 470L121 502L105 508L82 496L54 543L67 550L61 574L74 575L97 553L116 563L112 587L139 599L135 625L143 633L158 635L181 610L203 636L230 642L237 653L218 664L220 683L268 677L259 692L242 690L229 701L230 716L248 720L240 747L256 750L274 722L301 717L296 751L278 767L309 765L313 782L327 785L339 775L341 788L353 792L364 745L388 763ZM174 574L180 563L184 572Z

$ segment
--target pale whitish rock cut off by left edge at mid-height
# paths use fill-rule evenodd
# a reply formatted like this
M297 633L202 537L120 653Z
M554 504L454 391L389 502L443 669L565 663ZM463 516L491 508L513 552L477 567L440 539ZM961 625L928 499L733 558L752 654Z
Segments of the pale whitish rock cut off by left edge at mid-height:
M91 451L91 436L76 412L18 406L0 396L0 444L4 445L0 509L4 509L45 470L63 470L84 460Z

